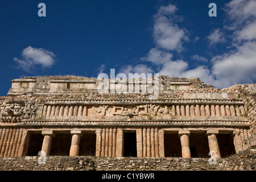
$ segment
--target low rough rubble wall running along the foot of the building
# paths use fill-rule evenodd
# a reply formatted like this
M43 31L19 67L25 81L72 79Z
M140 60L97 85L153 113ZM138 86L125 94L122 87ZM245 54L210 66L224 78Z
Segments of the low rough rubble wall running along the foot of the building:
M96 158L93 156L0 157L0 171L255 171L256 152L247 149L225 159Z

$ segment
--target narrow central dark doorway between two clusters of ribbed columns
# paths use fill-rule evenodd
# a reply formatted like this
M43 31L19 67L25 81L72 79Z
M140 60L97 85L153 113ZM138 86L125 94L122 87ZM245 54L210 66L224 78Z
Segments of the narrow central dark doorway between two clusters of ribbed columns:
M137 157L137 140L135 131L123 133L123 156Z

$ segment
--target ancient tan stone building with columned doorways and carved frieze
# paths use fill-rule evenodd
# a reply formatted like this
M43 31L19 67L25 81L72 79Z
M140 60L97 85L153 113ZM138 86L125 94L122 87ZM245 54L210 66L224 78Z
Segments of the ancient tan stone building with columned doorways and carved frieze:
M0 156L225 158L255 144L255 84L216 89L160 76L150 99L98 93L96 78L11 82L0 98Z

